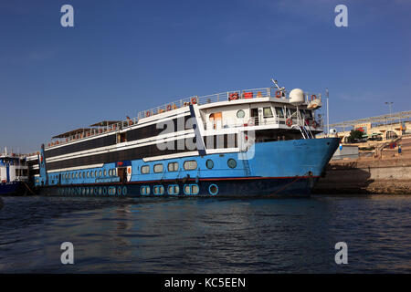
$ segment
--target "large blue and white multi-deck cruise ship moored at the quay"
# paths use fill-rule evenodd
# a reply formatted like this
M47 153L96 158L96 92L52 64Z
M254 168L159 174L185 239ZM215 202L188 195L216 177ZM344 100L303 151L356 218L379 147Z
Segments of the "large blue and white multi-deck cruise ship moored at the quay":
M54 136L27 157L40 194L307 196L337 149L321 94L274 86L189 97Z

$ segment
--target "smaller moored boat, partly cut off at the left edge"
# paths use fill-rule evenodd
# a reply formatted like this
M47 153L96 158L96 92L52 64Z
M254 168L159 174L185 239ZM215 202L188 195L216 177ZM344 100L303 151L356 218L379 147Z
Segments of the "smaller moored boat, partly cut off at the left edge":
M21 195L26 193L28 165L26 157L15 153L0 155L0 195Z

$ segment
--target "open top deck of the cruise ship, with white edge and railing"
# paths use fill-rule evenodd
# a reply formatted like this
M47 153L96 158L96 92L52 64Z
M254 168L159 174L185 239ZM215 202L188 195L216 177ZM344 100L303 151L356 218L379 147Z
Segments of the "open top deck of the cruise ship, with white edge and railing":
M45 147L46 149L49 149L58 145L69 143L71 141L79 141L93 136L102 135L113 130L126 129L132 127L133 125L139 124L146 118L150 118L167 111L173 111L188 107L190 104L196 104L200 107L219 105L224 106L225 104L227 104L227 101L230 101L230 104L232 104L236 102L245 102L246 100L258 102L259 100L267 100L267 98L273 98L276 102L279 103L290 103L289 92L287 90L273 88L238 89L202 97L191 96L184 99L178 99L176 101L163 104L162 106L149 110L142 110L138 112L137 117L130 119L128 118L127 120L104 121L102 123L90 125L89 128L81 128L78 130L68 131L64 134L53 137L54 140L48 142ZM303 105L308 105L312 99L320 99L321 101L321 93L304 92L304 99L305 102L303 103Z

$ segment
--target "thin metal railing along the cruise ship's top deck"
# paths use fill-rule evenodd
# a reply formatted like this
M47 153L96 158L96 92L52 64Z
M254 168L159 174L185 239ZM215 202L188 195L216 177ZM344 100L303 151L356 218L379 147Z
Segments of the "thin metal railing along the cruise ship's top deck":
M306 103L309 103L313 98L320 98L321 93L304 93L304 99ZM66 144L71 141L78 141L80 139L89 138L92 136L104 134L111 132L113 130L121 130L127 127L132 127L138 123L139 120L142 118L148 118L153 115L163 113L169 110L176 110L182 107L187 107L190 104L198 104L198 105L205 105L208 103L215 103L220 101L227 101L227 100L235 100L235 99L258 99L258 98L277 98L287 100L289 99L289 92L287 90L279 90L273 88L261 88L261 89L237 89L237 90L230 90L226 92L220 92L216 94L205 95L202 97L198 96L191 96L184 99L178 99L176 101L163 104L162 106L155 107L149 110L142 110L139 111L137 117L127 120L122 120L121 122L111 124L108 126L100 126L96 128L92 128L90 130L86 130L69 137L61 138L53 140L47 143L46 148L58 146L61 144Z

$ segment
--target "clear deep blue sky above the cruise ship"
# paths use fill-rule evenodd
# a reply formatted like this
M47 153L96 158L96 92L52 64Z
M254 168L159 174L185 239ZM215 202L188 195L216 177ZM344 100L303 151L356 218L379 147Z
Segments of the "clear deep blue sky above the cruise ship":
M74 27L60 7L74 7ZM334 7L348 7L348 27ZM0 2L0 148L174 99L330 90L331 122L411 110L411 1Z

